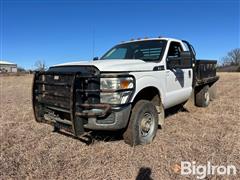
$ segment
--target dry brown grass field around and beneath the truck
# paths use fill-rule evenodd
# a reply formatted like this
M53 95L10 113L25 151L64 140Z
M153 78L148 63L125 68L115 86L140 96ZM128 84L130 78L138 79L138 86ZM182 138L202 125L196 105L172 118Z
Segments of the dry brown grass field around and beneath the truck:
M218 98L208 108L169 115L152 144L134 148L101 133L90 145L55 133L34 121L32 76L0 82L0 179L196 178L179 175L181 161L233 164L237 176L207 179L240 179L240 73L221 73Z

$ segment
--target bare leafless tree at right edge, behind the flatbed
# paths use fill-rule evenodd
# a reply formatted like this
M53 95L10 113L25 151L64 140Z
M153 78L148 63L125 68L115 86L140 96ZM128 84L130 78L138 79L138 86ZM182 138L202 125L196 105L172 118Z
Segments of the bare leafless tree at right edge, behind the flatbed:
M223 58L223 65L240 65L240 48L236 48L228 52Z

